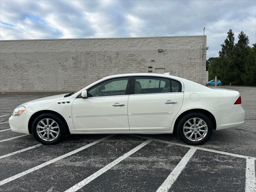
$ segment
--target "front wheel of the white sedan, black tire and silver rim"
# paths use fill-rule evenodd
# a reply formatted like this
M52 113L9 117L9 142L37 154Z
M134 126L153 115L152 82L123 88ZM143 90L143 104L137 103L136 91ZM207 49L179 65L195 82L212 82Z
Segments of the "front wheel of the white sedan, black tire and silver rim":
M57 144L60 142L67 134L67 129L66 123L62 118L51 113L40 114L32 123L32 133L34 138L38 142L46 145ZM40 133L38 133L38 131Z

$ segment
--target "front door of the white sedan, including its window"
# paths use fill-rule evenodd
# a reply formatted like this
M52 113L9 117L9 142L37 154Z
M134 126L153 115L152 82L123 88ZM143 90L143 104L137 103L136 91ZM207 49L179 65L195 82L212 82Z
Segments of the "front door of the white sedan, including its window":
M72 119L77 132L129 131L129 77L100 82L87 90L88 98L76 98Z

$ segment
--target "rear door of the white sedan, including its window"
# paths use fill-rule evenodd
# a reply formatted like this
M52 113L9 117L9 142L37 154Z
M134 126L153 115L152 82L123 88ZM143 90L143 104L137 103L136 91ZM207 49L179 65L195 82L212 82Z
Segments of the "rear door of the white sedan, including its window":
M130 131L170 131L184 92L176 80L135 76L128 100Z

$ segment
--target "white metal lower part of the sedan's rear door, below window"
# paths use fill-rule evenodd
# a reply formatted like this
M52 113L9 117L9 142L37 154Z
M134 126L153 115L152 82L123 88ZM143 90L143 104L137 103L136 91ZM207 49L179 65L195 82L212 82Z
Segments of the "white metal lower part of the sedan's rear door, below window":
M183 95L183 92L130 95L130 131L170 131L172 120L182 106ZM177 103L165 104L168 100Z

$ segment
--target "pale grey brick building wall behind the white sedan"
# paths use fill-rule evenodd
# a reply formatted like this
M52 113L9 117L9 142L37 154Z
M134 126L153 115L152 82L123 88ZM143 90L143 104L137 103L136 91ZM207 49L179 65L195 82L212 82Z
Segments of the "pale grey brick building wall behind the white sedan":
M0 91L75 91L104 76L155 68L200 82L202 42L203 36L2 40Z

